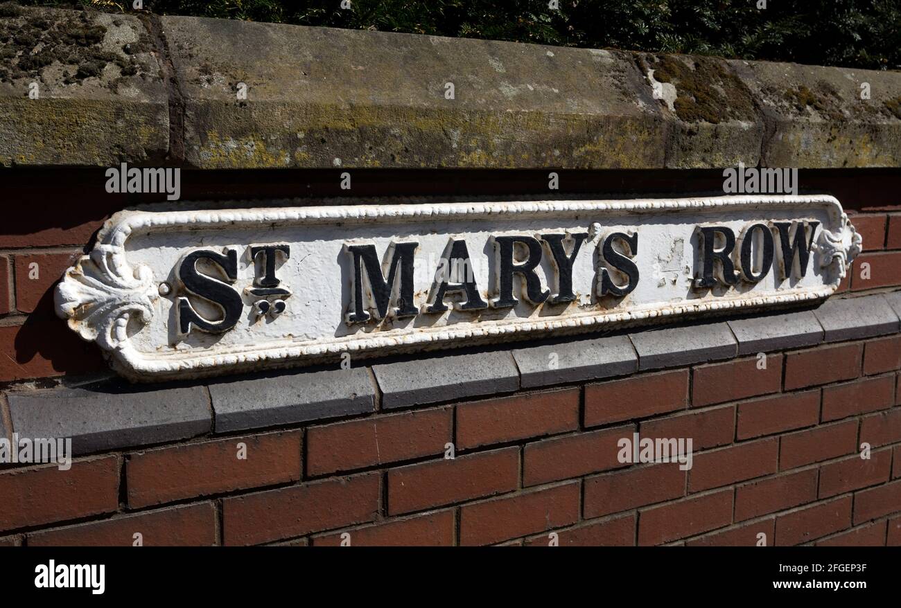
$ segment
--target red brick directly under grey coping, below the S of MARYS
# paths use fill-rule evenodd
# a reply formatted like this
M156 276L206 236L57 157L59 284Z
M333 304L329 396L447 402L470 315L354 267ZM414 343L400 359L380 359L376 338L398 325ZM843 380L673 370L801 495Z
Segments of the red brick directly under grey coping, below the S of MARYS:
M585 386L585 425L597 426L684 410L688 370L612 380Z

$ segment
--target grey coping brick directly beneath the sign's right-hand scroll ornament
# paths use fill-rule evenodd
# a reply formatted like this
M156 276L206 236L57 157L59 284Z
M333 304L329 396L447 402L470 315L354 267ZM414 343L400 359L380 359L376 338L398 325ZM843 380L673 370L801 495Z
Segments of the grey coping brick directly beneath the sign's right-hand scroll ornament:
M896 333L898 315L882 295L828 300L815 311L824 340L856 340Z

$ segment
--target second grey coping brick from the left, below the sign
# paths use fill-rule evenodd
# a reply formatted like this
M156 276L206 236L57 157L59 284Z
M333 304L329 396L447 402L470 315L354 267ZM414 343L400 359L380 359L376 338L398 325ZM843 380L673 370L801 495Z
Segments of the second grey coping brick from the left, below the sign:
M376 409L367 368L302 372L211 383L215 432L337 418Z

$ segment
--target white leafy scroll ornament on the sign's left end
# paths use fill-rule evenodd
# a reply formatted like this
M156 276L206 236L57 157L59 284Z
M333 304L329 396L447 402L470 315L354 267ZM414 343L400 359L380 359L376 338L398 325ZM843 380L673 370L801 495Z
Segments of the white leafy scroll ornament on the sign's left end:
M122 247L101 244L66 271L57 288L56 308L82 338L116 350L128 340L130 319L141 327L150 322L158 297L150 268L132 268Z

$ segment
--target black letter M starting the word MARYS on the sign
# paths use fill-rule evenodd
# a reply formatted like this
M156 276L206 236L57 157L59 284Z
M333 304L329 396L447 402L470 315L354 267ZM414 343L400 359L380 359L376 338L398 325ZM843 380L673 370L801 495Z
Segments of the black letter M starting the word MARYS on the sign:
M395 292L396 279L400 279L400 297L394 315L398 318L412 317L418 312L413 301L413 269L414 254L419 247L417 242L392 242L385 253L385 263L378 263L375 245L344 245L350 254L353 265L353 280L350 282L351 312L348 322L359 323L369 321L370 315L364 305L364 299L375 304L374 313L377 320L388 315L388 305ZM384 270L388 276L385 278ZM363 277L363 274L366 277ZM369 298L367 298L367 290Z

